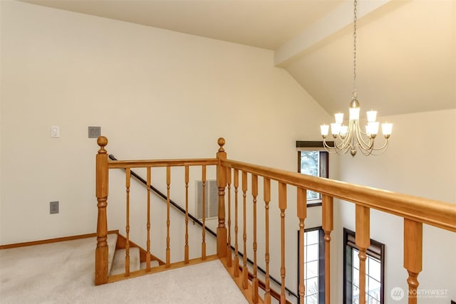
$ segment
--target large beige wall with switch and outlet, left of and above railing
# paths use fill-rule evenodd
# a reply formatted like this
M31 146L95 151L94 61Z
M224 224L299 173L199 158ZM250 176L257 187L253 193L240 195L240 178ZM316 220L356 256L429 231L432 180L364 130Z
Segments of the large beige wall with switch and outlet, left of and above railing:
M89 125L120 159L214 157L225 137L232 159L296 170L295 140L329 117L273 65L259 48L1 1L0 243L95 231Z

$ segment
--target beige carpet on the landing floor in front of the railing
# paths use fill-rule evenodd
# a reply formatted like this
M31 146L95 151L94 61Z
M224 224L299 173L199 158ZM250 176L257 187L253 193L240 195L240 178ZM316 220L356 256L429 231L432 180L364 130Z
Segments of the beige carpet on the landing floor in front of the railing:
M0 250L0 303L248 303L212 261L93 285L95 239Z

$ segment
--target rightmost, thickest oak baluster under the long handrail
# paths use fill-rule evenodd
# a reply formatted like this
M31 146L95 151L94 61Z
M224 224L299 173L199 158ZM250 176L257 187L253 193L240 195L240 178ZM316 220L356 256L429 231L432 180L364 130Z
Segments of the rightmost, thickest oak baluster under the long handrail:
M410 219L404 219L404 268L408 272L408 304L416 304L418 274L423 270L423 223Z

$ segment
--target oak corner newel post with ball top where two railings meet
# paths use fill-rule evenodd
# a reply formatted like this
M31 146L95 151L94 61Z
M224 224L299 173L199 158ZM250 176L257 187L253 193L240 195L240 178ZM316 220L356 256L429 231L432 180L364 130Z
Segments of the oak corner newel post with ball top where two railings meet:
M225 226L225 187L227 187L227 168L223 167L221 160L227 159L227 152L223 146L224 138L220 137L217 141L219 152L217 152L217 187L219 189L219 226L217 226L217 256L224 258L227 256L227 227Z

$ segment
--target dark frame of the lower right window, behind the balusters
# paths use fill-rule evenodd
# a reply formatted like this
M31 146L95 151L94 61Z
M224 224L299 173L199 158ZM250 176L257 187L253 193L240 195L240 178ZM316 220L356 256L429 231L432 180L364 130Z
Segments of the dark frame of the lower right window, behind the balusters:
M356 233L350 229L343 228L343 304L352 304L353 284L353 265L348 269L347 251L353 252L353 248L359 251L355 243ZM366 256L371 256L380 261L380 304L385 303L385 244L371 239L371 246L366 250ZM352 258L352 256L350 256ZM361 303L360 303L361 304Z

